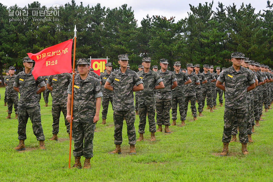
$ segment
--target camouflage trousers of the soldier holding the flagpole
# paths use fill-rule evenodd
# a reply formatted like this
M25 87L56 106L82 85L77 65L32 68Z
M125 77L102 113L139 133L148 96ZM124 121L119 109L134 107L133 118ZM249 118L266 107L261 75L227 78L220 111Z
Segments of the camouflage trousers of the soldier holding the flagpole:
M93 123L93 119L91 122L72 122L72 137L74 140L73 156L93 157L95 126L96 123Z

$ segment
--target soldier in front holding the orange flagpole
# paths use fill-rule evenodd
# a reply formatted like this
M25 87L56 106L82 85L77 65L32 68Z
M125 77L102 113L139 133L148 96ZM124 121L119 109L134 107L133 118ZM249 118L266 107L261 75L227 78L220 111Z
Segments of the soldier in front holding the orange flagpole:
M73 122L71 121L72 81L67 89L66 119L69 123L72 122L72 137L74 139L75 163L72 168L82 168L81 156L84 156L83 169L90 169L90 159L93 157L94 130L96 122L99 121L101 86L98 79L88 75L89 64L90 62L85 58L77 60L80 76L74 79ZM67 82L66 79L64 82Z

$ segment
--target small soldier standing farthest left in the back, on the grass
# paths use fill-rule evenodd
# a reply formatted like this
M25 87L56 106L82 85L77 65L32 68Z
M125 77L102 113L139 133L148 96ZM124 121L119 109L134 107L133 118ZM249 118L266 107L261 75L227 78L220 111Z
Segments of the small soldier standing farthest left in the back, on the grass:
M12 105L14 106L15 111L15 118L18 118L18 92L13 89L13 83L15 81L15 77L17 76L14 74L15 67L11 66L8 68L9 75L5 79L5 93L7 94L7 102L8 102L8 116L6 119L11 118L12 113Z

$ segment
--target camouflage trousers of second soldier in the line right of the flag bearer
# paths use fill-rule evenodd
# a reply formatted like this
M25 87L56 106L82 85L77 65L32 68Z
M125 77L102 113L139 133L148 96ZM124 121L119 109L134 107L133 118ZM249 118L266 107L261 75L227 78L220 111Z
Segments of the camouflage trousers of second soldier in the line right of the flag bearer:
M148 121L149 121L149 132L156 132L156 124L155 124L155 110L154 105L144 105L138 104L138 115L139 115L139 125L138 132L145 133L145 125L146 125L146 116L148 113Z

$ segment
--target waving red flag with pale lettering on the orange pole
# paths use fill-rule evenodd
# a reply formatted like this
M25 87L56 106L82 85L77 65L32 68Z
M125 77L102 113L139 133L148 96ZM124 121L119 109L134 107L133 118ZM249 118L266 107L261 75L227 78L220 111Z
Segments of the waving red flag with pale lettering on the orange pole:
M69 73L71 69L71 52L73 39L45 48L39 53L28 53L35 61L32 75L36 80L39 76Z

